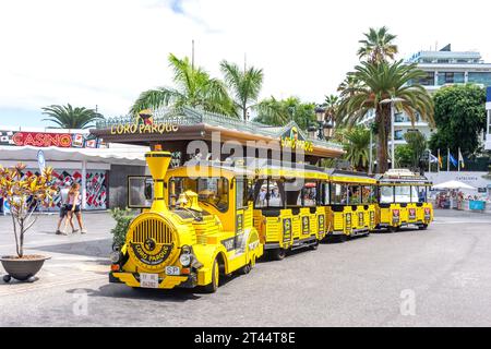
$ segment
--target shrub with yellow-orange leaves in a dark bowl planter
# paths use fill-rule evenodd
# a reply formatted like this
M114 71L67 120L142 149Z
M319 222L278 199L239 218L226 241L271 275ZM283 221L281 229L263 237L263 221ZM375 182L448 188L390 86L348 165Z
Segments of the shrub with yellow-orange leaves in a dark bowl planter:
M46 168L41 174L22 173L25 165L17 164L12 168L0 166L0 196L10 206L15 237L16 255L0 257L3 268L8 273L3 280L9 282L11 278L21 281L35 281L35 275L49 257L44 255L24 254L24 239L26 231L37 220L33 215L40 205L52 205L52 196L57 189L52 182L52 169Z

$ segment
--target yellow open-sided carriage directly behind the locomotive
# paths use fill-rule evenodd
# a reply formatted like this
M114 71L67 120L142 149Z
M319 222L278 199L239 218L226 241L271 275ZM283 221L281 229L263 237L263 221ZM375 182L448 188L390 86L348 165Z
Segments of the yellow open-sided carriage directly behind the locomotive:
M283 260L287 251L315 250L328 230L328 176L306 164L254 161L254 222L267 254Z

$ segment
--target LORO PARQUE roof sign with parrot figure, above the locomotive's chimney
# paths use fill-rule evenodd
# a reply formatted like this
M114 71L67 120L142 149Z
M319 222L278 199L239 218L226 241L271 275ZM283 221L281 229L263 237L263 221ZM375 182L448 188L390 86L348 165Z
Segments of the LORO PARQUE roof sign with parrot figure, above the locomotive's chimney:
M154 122L152 111L140 111L134 122L111 125L111 134L145 134L145 133L171 133L179 131L179 125L172 122Z

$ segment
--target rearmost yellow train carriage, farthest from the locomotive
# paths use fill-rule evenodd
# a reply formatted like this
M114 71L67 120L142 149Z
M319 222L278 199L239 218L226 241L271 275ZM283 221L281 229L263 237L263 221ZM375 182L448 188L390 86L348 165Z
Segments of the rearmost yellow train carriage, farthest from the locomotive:
M431 182L406 169L388 170L376 174L378 228L396 231L400 227L416 226L427 229L433 221L433 206L428 202Z

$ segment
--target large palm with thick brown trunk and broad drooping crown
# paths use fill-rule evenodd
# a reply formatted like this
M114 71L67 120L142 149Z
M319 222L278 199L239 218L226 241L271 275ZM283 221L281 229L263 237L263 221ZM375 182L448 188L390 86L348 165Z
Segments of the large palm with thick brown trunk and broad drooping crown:
M375 111L378 129L378 170L387 170L387 135L391 129L391 104L381 104L388 98L397 98L395 104L404 110L415 123L416 115L434 125L433 101L424 87L415 81L426 76L416 64L404 64L403 61L388 63L361 62L355 68L355 77L359 86L348 87L342 92L339 120L343 124L357 124L370 110ZM412 82L412 84L409 84Z

